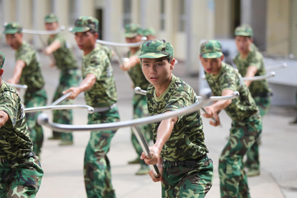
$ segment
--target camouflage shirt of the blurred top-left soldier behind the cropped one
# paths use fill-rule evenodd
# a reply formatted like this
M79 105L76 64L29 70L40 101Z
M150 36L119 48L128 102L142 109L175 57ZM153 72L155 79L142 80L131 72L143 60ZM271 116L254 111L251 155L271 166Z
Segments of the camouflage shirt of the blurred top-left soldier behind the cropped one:
M28 86L27 92L43 88L45 81L41 73L39 55L33 47L23 41L20 48L16 50L15 60L23 60L26 63L19 83Z

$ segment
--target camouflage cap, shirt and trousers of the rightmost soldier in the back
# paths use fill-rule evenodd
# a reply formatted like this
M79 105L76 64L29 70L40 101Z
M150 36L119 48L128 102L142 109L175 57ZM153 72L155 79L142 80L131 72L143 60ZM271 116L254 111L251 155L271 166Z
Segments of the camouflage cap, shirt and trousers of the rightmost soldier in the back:
M238 27L235 30L235 34L238 36L241 36L244 32L250 33L252 36L251 28ZM241 58L241 55L238 54L233 61L242 76L246 76L247 68L249 66L254 66L257 68L255 76L262 76L266 74L264 67L264 58L262 54L255 48L250 48L250 51L246 58L243 59ZM260 115L263 118L270 107L271 90L268 87L267 79L251 82L248 89L251 93L252 98L255 100L256 105L259 107ZM260 168L259 144L260 138L247 151L246 166L249 170L259 170Z

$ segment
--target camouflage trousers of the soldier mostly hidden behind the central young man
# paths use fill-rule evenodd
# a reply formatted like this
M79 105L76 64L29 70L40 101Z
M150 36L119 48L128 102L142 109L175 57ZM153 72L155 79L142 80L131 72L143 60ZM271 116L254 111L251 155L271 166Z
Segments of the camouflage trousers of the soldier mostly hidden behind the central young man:
M147 96L144 96L141 94L134 94L132 99L132 104L133 104L133 119L149 116ZM152 140L152 129L150 124L141 125L139 126L139 128L141 132L144 134L147 142ZM131 141L134 149L136 150L138 157L140 158L140 155L143 152L143 150L132 130L131 130ZM146 163L144 160L141 160L141 164L146 164Z

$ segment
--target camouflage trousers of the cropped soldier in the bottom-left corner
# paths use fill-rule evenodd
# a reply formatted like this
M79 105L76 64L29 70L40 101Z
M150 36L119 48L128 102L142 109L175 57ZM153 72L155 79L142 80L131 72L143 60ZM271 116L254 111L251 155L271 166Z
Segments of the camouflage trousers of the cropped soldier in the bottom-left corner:
M44 172L37 156L0 162L0 198L35 198Z

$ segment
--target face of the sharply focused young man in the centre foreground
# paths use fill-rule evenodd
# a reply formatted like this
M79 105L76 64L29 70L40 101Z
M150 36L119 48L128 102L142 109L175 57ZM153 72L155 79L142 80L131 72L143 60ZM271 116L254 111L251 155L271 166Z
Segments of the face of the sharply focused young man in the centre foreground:
M153 86L161 85L171 76L174 59L169 63L166 57L142 58L142 70L146 79Z

